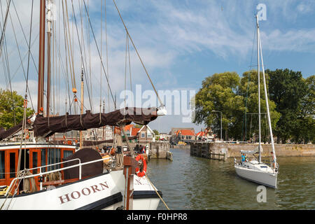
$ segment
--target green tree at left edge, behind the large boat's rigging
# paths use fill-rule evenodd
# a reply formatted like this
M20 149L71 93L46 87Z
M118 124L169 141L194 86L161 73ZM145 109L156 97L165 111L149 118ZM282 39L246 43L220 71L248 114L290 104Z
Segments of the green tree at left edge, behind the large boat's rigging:
M27 108L27 116L34 113ZM0 89L0 127L9 129L23 120L24 98L16 91Z

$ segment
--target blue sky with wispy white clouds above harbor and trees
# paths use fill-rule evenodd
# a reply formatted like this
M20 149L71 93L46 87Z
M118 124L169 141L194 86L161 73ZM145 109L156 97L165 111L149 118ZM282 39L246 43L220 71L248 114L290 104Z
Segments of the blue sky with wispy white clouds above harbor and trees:
M25 29L26 38L22 35L22 29L13 6L10 6L12 17L8 20L6 27L6 49L10 64L11 86L13 90L17 90L22 95L25 94L25 78L23 68L20 66L13 27L20 46L20 53L24 57L23 67L26 73L26 55L28 52L26 43L29 38L31 2L31 0L13 1L20 15L22 27ZM38 63L38 2L34 1L31 35L31 41L34 42L31 47L34 63L31 62L29 66L30 95L33 99L34 108L36 108L37 88L35 64ZM57 27L55 43L56 46L60 44L61 48L59 48L59 52L57 50L55 52L56 55L62 56L56 57L55 82L52 84L54 85L55 95L57 95L57 99L55 99L56 113L57 111L59 113L65 111L66 101L66 86L62 85L66 82L63 80L58 83L57 81L57 78L66 77L65 72L62 72L66 70L66 57L64 56L62 25L59 29L59 18L62 18L62 13L59 13L62 6L59 3L60 1L56 3L54 14ZM73 0L73 3L76 22L79 25L78 33L81 34L80 6L81 13L84 14L83 0ZM78 3L80 3L80 6ZM131 41L129 42L130 66L129 59L126 66L126 32L113 1L106 1L106 23L104 16L105 1L85 0L86 5L87 3L99 50L102 46L104 69L106 74L109 75L111 90L114 95L117 95L118 104L121 105L124 98L125 74L127 74L126 88L128 90L135 93L137 85L141 85L142 92L152 91L153 87ZM149 125L153 130L169 132L172 127L194 127L195 132L199 132L203 126L197 126L188 122L187 119L183 119L183 111L180 111L179 115L174 115L176 106L189 109L190 106L187 102L190 102L190 97L193 97L190 93L198 92L202 80L214 73L236 71L239 76L242 76L245 71L257 66L254 36L255 14L262 12L262 8L257 8L258 4L265 6L263 11L265 18L260 21L265 69L288 68L293 71L302 71L304 78L315 73L315 1L116 0L116 3L155 88L159 91L170 91L171 94L178 92L180 94L180 100L174 99L175 102L166 105L169 115L160 117ZM72 10L71 1L68 1L68 7L70 12ZM6 1L1 0L1 10L4 15ZM3 27L3 15L1 29ZM76 87L79 89L82 67L80 45L76 36L75 20L71 13L69 13L69 18L69 27L73 35L73 70L76 76ZM86 17L83 17L83 24L82 30L85 35L86 49L88 49L88 43L90 43L90 57L87 57L85 72L88 73L89 69L91 71L87 76L90 83L85 83L85 106L87 109L92 108L92 111L97 113L102 99L106 100L106 104L108 103L107 83L104 72L101 73L102 66L92 32L91 30L87 31L90 28L86 22ZM90 36L88 36L89 32ZM108 70L106 66L105 34L107 34L108 40ZM3 55L1 55L1 61L3 61ZM60 68L59 62L63 63L63 69ZM0 69L4 69L3 64ZM130 74L132 77L131 85ZM0 83L0 87L8 88L8 78L4 77L3 80L6 80L6 82ZM69 76L67 80L70 80ZM86 96L87 86L92 86L88 92L89 97ZM71 87L70 83L70 89ZM188 93L188 97L183 92ZM142 98L144 97L142 96ZM68 99L68 106L69 101L71 99ZM146 99L143 99L143 101L145 102ZM155 99L155 102L156 105L153 106L160 106L157 99ZM110 104L111 109L113 109L112 103ZM183 122L183 120L185 121Z

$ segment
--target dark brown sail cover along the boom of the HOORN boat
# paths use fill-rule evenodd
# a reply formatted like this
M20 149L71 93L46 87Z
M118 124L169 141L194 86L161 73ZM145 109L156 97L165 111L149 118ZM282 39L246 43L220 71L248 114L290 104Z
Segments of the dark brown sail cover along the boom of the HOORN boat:
M157 109L125 108L111 113L95 113L86 111L82 115L68 115L44 118L37 116L34 121L35 137L50 137L56 132L69 132L71 130L83 131L91 128L104 127L106 125L148 125L151 121L158 118Z

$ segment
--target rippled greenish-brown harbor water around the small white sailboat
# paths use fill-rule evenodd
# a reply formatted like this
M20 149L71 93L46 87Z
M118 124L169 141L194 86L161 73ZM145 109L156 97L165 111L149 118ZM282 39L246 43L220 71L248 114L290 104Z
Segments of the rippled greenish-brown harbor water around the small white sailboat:
M173 162L150 160L148 176L169 209L315 209L314 157L278 158L278 188L267 188L267 202L257 202L258 184L239 178L234 159L225 162L190 156L172 148ZM165 210L160 202L159 210Z

